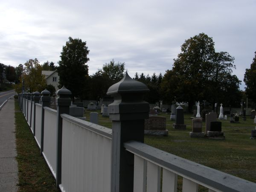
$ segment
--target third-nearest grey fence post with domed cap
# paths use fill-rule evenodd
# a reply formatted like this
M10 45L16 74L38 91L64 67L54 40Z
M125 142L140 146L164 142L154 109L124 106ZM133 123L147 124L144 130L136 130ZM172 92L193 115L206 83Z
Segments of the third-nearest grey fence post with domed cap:
M41 92L41 103L42 103L42 118L41 118L41 155L44 151L44 107L50 106L50 92L45 89Z

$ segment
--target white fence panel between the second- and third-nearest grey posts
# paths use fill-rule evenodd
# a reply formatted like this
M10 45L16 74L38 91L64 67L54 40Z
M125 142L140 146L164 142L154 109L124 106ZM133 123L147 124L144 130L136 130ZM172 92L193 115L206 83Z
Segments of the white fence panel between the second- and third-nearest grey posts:
M44 107L44 158L56 178L57 111Z

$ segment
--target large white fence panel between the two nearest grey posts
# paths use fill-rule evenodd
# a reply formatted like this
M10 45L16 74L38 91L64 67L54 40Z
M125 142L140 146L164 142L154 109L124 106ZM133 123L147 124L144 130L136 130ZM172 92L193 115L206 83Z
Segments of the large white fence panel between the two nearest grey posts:
M110 192L112 130L62 114L62 191Z

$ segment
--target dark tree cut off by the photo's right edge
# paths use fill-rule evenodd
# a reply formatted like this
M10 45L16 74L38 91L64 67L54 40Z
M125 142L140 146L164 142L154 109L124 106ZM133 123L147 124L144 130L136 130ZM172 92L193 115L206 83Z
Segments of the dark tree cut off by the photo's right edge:
M253 62L250 69L246 69L244 73L244 83L246 84L245 93L249 99L256 103L256 52L254 52Z

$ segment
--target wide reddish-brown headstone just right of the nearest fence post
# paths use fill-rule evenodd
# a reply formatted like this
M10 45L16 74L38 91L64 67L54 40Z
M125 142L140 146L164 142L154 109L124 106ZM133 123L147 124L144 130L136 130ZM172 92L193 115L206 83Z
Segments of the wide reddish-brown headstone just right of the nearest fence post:
M166 130L166 117L149 116L144 122L144 134L146 135L168 135Z

